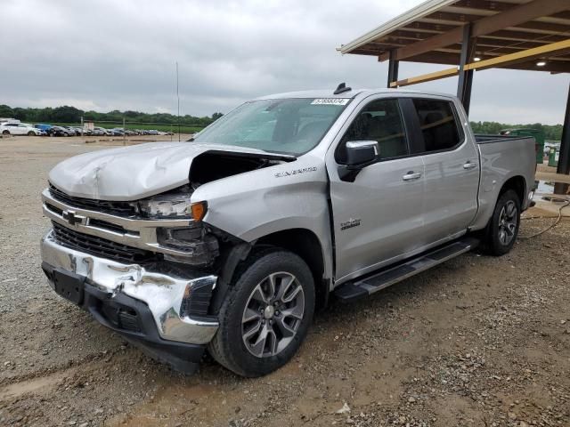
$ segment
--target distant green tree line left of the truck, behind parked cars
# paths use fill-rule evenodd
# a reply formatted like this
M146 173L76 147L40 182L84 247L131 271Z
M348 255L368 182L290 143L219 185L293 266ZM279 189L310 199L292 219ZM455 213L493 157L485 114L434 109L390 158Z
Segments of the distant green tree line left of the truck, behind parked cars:
M118 111L113 110L108 113L97 111L83 111L75 107L64 105L62 107L46 107L45 109L22 109L20 107L11 108L7 105L0 105L0 117L17 118L28 123L80 123L81 117L84 120L97 122L121 123L123 118L129 124L134 123L161 123L177 124L178 117L167 113L142 113L140 111ZM217 118L222 117L222 113L214 113L212 117L194 117L185 115L180 117L180 123L185 125L207 126Z

